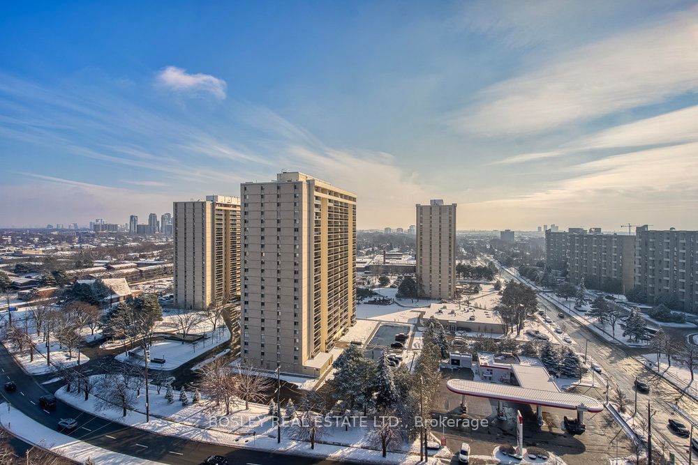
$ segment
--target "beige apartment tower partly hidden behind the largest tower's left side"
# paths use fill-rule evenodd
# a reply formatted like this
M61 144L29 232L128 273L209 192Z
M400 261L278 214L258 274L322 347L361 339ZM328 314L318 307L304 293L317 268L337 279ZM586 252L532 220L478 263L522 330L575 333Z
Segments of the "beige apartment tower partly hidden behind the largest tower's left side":
M205 310L240 295L240 199L174 202L174 302Z

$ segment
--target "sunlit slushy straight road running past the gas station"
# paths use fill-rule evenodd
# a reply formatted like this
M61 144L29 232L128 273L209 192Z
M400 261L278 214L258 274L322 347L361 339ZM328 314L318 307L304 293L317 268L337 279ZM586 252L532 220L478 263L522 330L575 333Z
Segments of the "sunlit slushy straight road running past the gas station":
M506 268L500 269L502 273L513 277L515 280L530 285L526 280L519 277L518 273L511 272ZM681 420L669 404L676 404L683 411L689 413L692 418L698 418L698 403L691 397L682 395L681 392L678 392L674 386L661 376L649 372L644 365L641 365L641 363L626 353L622 346L607 342L569 316L560 319L558 312L565 308L564 306L554 305L554 303L542 296L538 297L538 302L542 310L546 310L547 316L553 320L551 326L565 325L566 332L572 337L575 343L574 349L577 352L584 353L586 341L588 341L588 357L593 358L596 363L601 365L602 371L609 379L611 389L614 388L614 384L617 385L630 397L631 402L634 402L637 395L637 409L645 418L647 417L647 404L651 402L651 409L654 411L652 418L653 448L658 448L660 443L665 441L667 452L674 452L677 463L688 463L688 439L676 436L667 428L669 418ZM568 314L569 310L565 308L564 312ZM651 390L648 394L637 392L634 389L634 380L636 378L644 380L650 385ZM634 409L634 406L630 406L630 409ZM685 423L685 421L683 422Z

